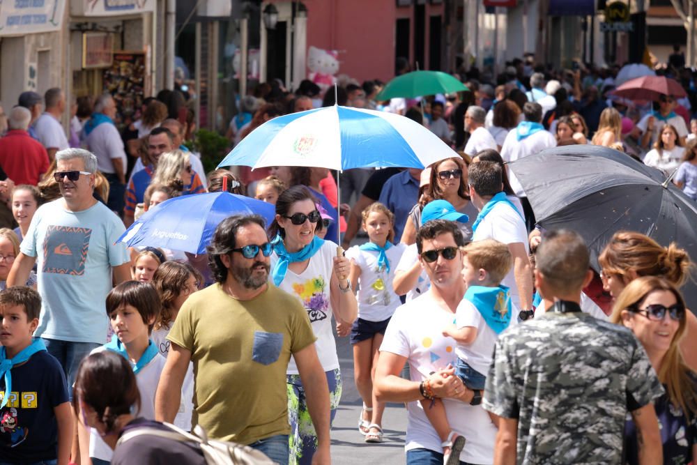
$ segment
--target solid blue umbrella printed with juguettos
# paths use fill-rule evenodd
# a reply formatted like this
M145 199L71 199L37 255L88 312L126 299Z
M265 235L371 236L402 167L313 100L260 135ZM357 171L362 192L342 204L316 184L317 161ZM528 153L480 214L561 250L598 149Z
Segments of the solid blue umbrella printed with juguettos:
M275 208L273 204L229 192L184 195L151 208L117 242L130 247L149 245L204 254L217 225L240 213L261 215L268 225L273 221Z

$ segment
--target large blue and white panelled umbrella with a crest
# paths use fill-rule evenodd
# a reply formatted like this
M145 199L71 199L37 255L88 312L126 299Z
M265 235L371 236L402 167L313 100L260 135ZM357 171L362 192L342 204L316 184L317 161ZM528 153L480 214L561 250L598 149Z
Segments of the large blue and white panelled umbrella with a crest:
M424 168L455 156L438 136L405 116L335 105L263 123L218 167Z

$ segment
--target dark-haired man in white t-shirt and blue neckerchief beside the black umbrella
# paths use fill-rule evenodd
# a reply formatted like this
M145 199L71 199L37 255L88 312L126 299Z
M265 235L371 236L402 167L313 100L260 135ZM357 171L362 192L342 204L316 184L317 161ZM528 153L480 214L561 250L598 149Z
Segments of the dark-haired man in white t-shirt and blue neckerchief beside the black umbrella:
M473 241L496 239L508 245L513 268L501 284L510 288L513 314L518 315L533 308L533 274L528 259L530 249L525 222L518 209L506 198L502 176L501 166L496 162L476 162L468 169L470 198L480 211L472 226L472 238Z

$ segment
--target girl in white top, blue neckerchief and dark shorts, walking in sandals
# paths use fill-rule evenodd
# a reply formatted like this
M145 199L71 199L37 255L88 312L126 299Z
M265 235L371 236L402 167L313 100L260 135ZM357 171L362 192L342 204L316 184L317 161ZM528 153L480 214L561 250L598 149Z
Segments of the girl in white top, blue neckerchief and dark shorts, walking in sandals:
M365 436L367 443L381 443L385 404L378 402L373 392L374 363L390 318L401 305L399 296L392 289L392 280L406 245L392 243L395 214L383 204L375 202L369 205L361 216L368 242L346 251L346 257L351 259L351 284L357 289L360 284L358 319L351 328L353 377L363 399L358 432Z

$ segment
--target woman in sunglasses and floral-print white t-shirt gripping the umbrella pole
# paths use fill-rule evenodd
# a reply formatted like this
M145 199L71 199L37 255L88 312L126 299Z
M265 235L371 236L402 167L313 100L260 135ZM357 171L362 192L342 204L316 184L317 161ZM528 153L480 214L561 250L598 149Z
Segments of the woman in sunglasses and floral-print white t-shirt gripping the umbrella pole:
M315 230L323 227L316 204L304 185L294 185L279 195L276 217L268 229L273 244L271 277L277 287L296 296L307 310L317 337L317 355L327 376L333 421L342 395L342 378L330 312L337 323L350 327L358 304L348 281L348 259L337 257L335 243L315 235ZM316 449L316 432L293 358L288 365L287 383L291 464L310 464Z

